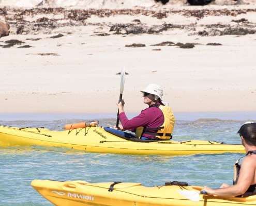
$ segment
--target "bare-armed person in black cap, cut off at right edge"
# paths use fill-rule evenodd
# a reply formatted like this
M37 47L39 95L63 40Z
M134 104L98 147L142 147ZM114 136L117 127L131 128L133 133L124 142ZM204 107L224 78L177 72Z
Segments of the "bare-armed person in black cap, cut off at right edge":
M245 123L237 133L240 135L247 153L242 165L238 164L241 158L235 163L233 185L224 183L215 190L204 186L203 190L208 195L236 197L256 194L256 123Z

